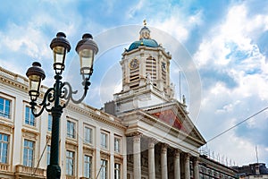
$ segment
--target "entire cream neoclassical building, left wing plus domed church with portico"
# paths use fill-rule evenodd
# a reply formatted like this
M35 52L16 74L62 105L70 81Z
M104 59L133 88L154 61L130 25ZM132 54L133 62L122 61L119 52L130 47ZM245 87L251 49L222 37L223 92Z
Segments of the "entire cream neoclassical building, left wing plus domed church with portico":
M62 178L199 178L205 140L185 101L174 98L171 60L145 24L122 54L122 90L113 101L103 109L82 103L63 110ZM52 116L30 113L24 76L0 67L0 81L0 178L46 178Z

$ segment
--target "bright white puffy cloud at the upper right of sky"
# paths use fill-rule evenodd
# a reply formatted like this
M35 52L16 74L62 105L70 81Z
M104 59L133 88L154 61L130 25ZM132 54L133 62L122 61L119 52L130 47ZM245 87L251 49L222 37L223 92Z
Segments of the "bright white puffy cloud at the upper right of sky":
M264 30L265 23L260 23L260 19L267 21L268 15L260 17L247 17L247 7L243 4L230 8L225 21L215 26L207 37L203 39L194 58L197 65L202 67L206 64L229 64L231 58L227 58L232 50L242 51L244 54L255 53L258 47L253 43L255 30ZM254 54L259 55L259 54Z

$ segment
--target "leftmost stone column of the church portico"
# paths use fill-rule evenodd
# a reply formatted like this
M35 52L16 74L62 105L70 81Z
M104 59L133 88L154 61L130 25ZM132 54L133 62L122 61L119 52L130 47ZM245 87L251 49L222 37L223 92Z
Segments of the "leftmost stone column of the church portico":
M133 136L133 167L134 178L141 178L141 163L140 163L140 134Z

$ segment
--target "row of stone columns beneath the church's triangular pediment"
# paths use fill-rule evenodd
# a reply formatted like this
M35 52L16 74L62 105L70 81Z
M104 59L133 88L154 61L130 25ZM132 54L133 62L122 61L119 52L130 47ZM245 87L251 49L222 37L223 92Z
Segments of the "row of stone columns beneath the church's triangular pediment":
M128 178L199 179L195 153L175 149L142 133L133 133L128 141L133 144L133 150L128 149Z

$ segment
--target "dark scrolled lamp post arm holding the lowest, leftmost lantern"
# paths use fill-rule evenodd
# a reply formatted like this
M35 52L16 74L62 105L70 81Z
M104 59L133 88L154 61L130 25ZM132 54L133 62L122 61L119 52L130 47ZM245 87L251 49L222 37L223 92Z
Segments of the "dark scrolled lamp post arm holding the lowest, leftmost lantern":
M50 88L46 90L46 93L44 95L43 101L38 105L35 101L31 101L29 103L31 112L35 117L38 117L43 113L43 111L46 109L47 112L51 112L50 104L54 101L54 88ZM42 107L40 111L37 113L36 107Z

